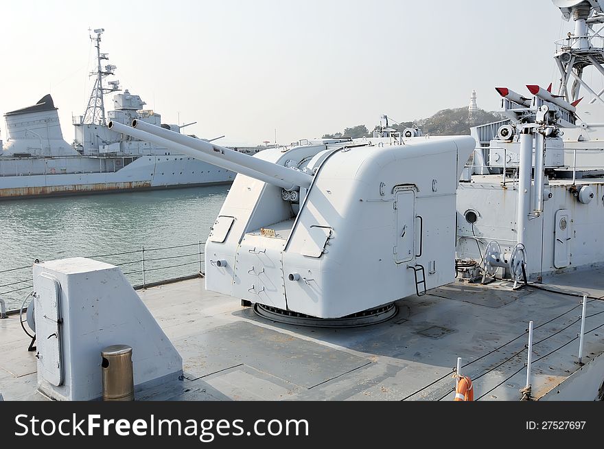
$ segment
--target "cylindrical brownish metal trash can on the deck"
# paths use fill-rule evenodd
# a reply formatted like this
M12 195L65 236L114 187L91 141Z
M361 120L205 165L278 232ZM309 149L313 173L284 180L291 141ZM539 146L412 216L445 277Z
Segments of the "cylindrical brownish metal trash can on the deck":
M132 373L132 347L108 346L101 352L103 369L103 400L135 400L135 381Z

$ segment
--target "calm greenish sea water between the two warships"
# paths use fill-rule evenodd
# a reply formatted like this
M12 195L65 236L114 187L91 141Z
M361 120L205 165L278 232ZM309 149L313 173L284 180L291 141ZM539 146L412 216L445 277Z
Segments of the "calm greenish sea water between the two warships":
M142 274L137 273L141 246L146 282L196 273L198 242L205 242L228 189L225 185L1 202L0 297L8 310L21 306L32 291L30 266L36 259L102 256L95 259L120 264L133 285L142 284ZM181 247L161 249L170 246ZM28 268L6 271L22 266Z

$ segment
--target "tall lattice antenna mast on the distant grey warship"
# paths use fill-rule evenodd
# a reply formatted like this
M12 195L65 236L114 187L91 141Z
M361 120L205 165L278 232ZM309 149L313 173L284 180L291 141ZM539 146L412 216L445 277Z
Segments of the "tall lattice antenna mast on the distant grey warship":
M94 30L96 36L90 36L91 41L95 43L95 47L97 49L97 69L96 71L92 71L90 73L90 76L96 77L96 80L88 100L88 106L86 106L86 112L84 113L82 123L85 124L106 124L103 95L120 90L119 81L117 80L108 82L110 87L103 87L103 79L107 76L113 75L115 69L117 69L115 65L111 64L108 64L105 67L102 66L103 60L109 60L109 57L106 53L101 53L101 34L103 34L104 31L104 28L97 28Z

